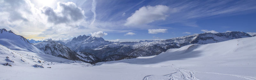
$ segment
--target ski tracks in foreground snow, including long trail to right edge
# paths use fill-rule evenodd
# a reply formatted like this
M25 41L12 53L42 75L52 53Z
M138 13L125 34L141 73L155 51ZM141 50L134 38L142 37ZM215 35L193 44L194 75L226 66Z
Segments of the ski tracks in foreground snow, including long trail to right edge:
M172 67L172 68L174 68L174 67ZM195 75L194 75L195 72L206 73L206 74L235 76L235 77L244 78L244 79L248 79L248 80L256 80L256 77L252 77L252 76L221 74L221 73L201 72L201 71L187 71L187 70L181 69L181 68L175 68L175 69L176 69L176 72L174 72L174 73L167 74L164 76L148 75L148 76L145 76L142 80L155 80L155 79L160 79L160 80L181 80L181 79L183 79L183 80L199 80L195 77ZM186 71L189 73L186 73ZM177 73L179 73L179 74L177 74ZM166 78L168 78L168 79L166 79Z

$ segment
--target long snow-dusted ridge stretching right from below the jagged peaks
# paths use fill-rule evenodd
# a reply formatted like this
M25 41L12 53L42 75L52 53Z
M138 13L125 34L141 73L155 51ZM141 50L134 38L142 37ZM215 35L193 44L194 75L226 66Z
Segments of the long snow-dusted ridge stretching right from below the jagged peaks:
M83 51L92 53L101 59L113 54L137 57L153 56L168 49L180 48L189 44L209 44L243 37L251 36L247 33L236 31L216 34L203 33L153 42L119 42Z

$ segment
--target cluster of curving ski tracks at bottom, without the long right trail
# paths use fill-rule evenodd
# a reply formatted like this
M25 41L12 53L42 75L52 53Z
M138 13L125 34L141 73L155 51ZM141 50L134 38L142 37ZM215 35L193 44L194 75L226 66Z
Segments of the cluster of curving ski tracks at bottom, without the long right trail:
M164 76L148 75L143 80L199 80L194 74L195 72L193 71L187 73L184 69L177 69L174 73Z

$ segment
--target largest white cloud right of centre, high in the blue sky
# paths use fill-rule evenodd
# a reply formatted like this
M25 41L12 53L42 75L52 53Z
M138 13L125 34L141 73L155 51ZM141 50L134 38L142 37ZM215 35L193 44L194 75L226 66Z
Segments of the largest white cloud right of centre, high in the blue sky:
M143 6L126 19L125 26L142 25L156 20L165 20L169 7L165 5Z

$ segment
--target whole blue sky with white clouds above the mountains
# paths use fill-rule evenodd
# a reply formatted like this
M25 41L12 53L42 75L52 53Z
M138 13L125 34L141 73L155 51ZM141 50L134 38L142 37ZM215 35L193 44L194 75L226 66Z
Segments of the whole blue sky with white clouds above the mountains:
M78 35L139 41L204 32L256 34L255 0L0 0L0 4L0 27L36 40Z

